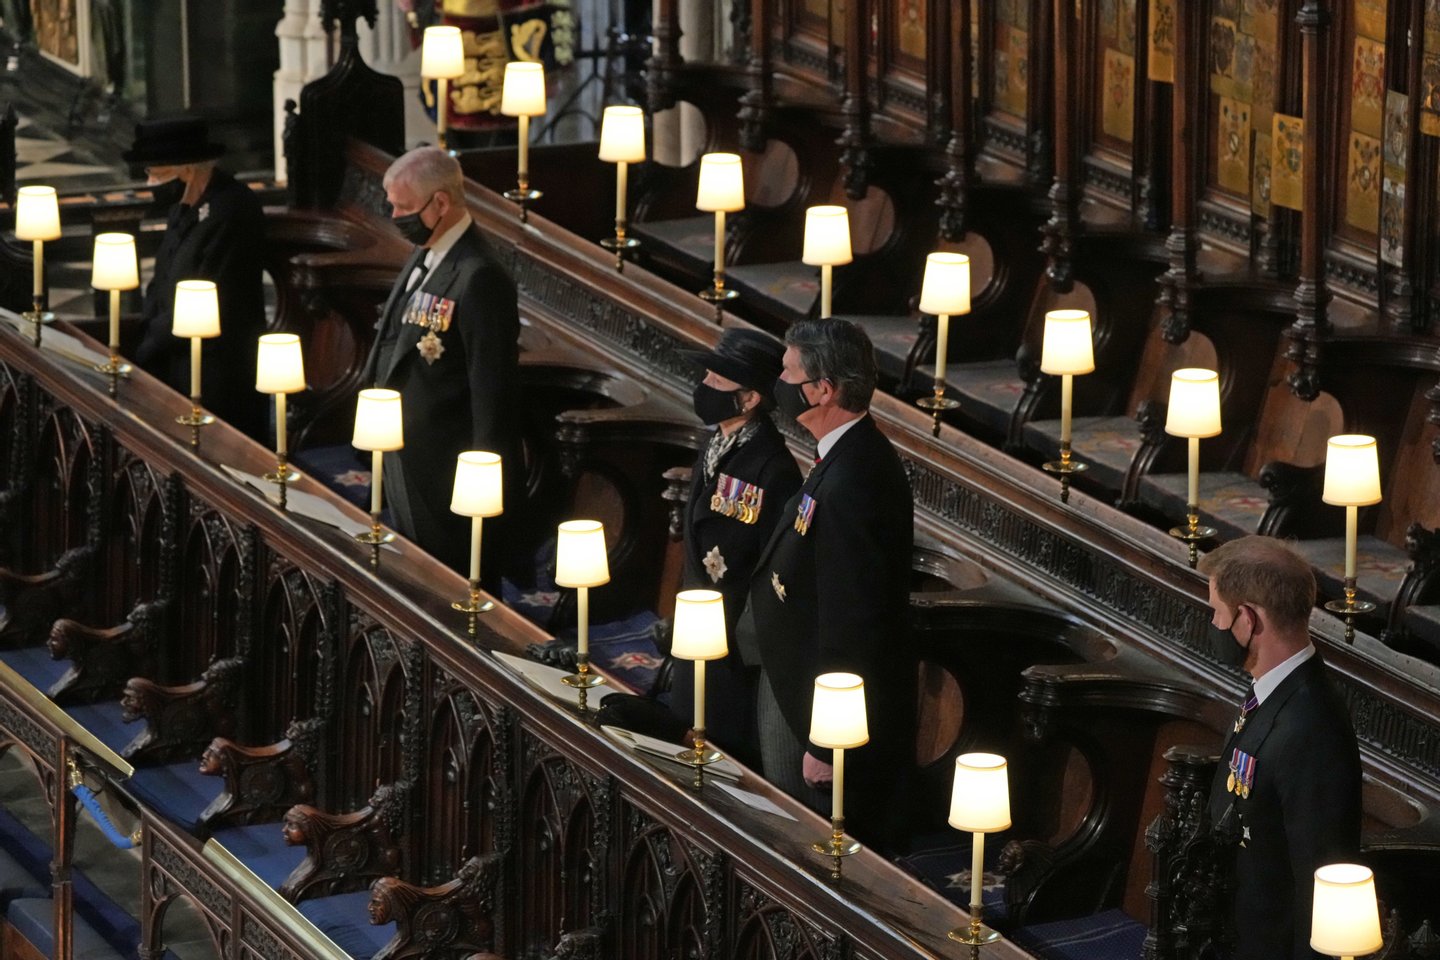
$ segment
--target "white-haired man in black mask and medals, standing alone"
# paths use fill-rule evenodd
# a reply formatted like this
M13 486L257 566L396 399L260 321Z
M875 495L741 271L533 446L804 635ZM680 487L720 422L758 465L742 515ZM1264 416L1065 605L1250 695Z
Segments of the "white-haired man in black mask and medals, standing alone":
M363 383L400 391L405 449L384 455L395 528L459 571L469 570L469 524L449 511L455 458L500 453L505 517L485 528L487 589L497 592L500 547L524 502L516 380L516 285L465 209L459 163L435 147L405 154L384 174L400 233L416 245L380 311Z

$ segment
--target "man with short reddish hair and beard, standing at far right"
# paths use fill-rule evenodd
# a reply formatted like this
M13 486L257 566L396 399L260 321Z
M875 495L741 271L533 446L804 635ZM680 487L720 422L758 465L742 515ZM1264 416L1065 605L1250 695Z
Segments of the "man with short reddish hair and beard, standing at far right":
M1279 540L1207 554L1212 623L1254 678L1210 787L1210 818L1236 851L1237 960L1310 960L1316 866L1359 851L1355 731L1310 643L1315 574Z

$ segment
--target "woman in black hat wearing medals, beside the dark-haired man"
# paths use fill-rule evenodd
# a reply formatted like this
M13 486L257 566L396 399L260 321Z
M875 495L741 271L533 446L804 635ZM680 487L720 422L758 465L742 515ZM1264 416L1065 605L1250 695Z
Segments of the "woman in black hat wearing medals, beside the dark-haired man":
M690 474L684 586L724 596L730 639L730 655L706 672L706 735L752 767L760 763L755 725L760 659L749 640L753 635L742 642L736 623L749 600L760 550L801 485L795 456L770 419L782 353L769 334L742 328L726 330L714 350L688 353L704 373L694 390L696 416L716 432ZM693 671L674 672L670 705L688 725L694 715Z

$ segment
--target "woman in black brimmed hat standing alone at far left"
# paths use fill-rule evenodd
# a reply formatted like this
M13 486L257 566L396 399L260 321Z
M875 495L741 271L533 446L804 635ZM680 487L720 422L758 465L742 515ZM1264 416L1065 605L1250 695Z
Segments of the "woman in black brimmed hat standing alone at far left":
M168 220L145 288L144 332L135 361L181 393L190 391L190 345L170 332L179 281L215 281L220 335L202 345L203 406L236 429L266 439L265 397L255 391L256 338L265 332L261 262L265 214L249 187L216 168L225 147L203 119L177 117L135 125L125 160L143 167Z

